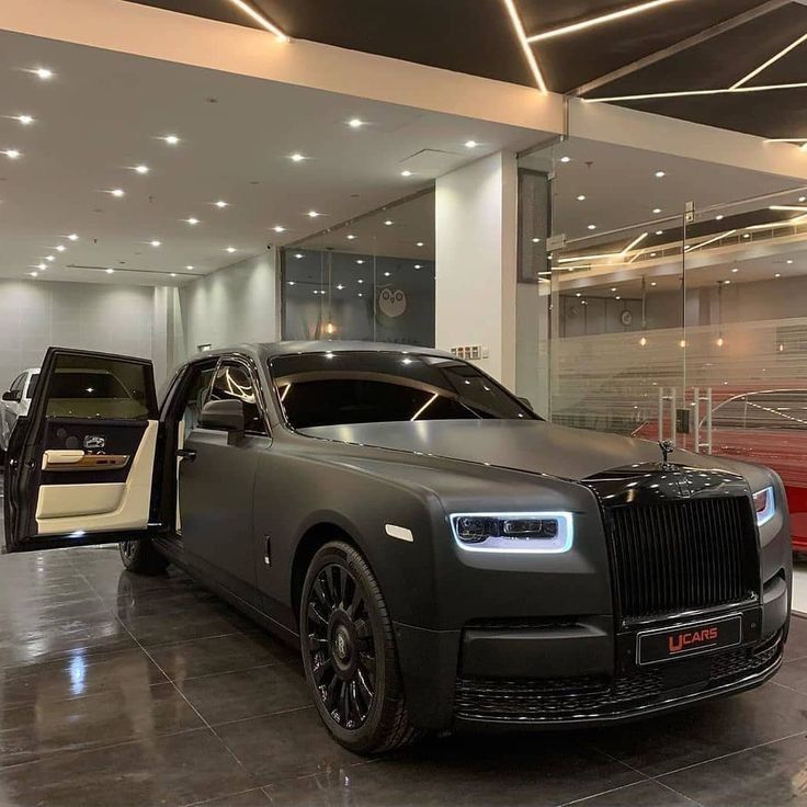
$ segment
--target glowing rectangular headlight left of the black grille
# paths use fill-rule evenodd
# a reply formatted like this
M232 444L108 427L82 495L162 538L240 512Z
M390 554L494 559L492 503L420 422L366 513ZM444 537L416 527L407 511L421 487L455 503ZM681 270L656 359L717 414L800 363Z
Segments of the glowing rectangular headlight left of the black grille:
M557 554L573 541L571 513L453 513L451 526L468 552Z

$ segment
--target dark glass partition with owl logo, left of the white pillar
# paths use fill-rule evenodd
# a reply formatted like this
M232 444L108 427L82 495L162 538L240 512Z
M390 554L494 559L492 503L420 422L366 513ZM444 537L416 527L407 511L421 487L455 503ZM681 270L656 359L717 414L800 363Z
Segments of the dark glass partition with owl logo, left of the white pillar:
M285 248L283 339L434 345L434 192Z

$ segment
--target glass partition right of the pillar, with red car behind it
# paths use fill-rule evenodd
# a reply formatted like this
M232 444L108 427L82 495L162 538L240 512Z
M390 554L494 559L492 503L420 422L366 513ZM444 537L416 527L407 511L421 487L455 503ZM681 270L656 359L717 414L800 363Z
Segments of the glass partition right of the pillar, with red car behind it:
M807 548L807 189L650 152L616 150L605 166L587 154L567 141L521 160L522 195L543 169L553 211L531 258L546 344L519 345L543 361L542 413L773 467ZM521 227L522 245L541 245L528 218Z

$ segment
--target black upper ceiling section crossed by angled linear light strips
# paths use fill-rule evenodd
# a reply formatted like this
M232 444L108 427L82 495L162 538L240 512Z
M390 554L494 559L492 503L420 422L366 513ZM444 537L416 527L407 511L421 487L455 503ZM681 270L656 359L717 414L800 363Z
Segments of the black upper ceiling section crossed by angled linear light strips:
M234 0L129 1L259 26ZM383 14L376 0L249 2L292 38L544 82L587 100L618 98L768 138L807 137L807 5L799 0L407 0L386 3ZM539 76L509 9L534 39L527 47ZM656 93L675 94L635 98Z

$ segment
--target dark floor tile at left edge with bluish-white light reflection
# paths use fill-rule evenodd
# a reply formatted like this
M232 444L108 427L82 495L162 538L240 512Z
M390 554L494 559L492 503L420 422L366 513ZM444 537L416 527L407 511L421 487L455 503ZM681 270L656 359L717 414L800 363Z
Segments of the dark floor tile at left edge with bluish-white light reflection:
M100 657L88 657L77 650L57 661L0 669L0 708L86 697L166 681L157 664L139 648Z

